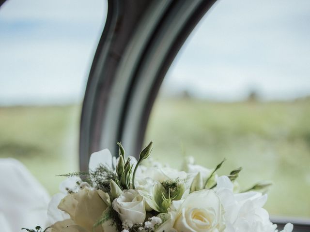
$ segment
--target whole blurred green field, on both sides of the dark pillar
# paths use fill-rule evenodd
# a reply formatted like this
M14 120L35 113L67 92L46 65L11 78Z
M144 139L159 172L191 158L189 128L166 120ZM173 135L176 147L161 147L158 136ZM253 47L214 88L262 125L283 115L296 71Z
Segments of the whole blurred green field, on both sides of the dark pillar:
M0 108L0 157L21 160L53 194L63 174L78 169L79 106ZM185 156L219 174L244 169L241 189L272 180L266 208L310 217L310 101L155 103L146 142L153 158L180 167Z

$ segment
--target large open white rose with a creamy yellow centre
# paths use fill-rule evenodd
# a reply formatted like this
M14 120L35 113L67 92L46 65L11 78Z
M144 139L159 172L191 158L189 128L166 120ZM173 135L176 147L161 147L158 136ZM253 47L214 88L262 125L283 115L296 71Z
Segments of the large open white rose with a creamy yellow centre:
M179 232L222 232L225 229L221 201L213 190L192 192L183 202L173 201L172 204L172 226Z

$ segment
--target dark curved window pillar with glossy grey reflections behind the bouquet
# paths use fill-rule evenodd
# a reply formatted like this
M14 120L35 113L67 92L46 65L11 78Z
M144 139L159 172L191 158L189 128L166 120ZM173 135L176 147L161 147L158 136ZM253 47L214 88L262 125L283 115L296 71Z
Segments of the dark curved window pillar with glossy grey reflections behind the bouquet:
M121 141L137 156L160 84L189 33L215 0L109 0L105 29L87 83L80 169Z

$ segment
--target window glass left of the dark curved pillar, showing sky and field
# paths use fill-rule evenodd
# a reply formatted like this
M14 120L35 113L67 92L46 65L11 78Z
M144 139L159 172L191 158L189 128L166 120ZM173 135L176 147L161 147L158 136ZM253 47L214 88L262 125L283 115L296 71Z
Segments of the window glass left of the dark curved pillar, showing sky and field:
M0 158L53 194L78 170L81 102L104 27L102 0L8 0L0 8Z

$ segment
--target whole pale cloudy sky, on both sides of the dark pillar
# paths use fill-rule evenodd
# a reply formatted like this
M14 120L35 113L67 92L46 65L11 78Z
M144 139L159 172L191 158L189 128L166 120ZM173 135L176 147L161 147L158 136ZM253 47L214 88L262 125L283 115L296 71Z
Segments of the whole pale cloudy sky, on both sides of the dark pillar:
M107 5L7 0L0 8L0 105L81 102ZM163 91L239 101L310 95L310 1L219 0L173 62Z

